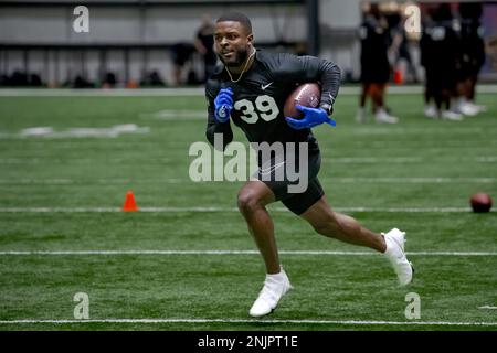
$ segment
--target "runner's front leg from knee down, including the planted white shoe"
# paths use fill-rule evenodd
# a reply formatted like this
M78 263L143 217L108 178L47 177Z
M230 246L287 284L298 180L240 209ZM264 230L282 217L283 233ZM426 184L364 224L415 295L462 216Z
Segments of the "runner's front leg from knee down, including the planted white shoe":
M273 221L265 207L274 201L273 191L258 180L248 181L239 192L240 212L245 217L248 231L266 265L264 287L250 310L252 317L271 313L279 299L292 288L288 277L279 266Z

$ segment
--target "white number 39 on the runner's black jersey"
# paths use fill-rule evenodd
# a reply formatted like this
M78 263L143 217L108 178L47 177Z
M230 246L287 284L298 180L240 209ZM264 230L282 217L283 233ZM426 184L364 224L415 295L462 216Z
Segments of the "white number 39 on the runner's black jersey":
M276 101L273 97L267 95L255 98L255 107L248 99L236 100L233 107L236 110L242 111L240 118L247 124L257 122L260 117L263 120L271 121L279 114Z

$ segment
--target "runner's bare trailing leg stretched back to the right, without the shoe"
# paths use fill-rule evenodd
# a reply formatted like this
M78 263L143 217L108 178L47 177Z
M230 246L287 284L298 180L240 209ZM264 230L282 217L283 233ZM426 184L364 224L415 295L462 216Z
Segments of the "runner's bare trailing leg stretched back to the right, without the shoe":
M355 218L334 212L328 204L326 195L300 215L314 229L325 236L338 240L370 247L384 253L387 244L381 234L362 227Z

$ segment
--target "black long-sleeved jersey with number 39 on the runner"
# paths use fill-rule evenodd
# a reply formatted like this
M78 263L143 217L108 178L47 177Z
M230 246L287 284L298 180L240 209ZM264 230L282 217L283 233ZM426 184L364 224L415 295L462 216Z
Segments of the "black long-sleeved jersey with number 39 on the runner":
M327 110L332 107L340 84L340 69L325 60L257 51L251 68L236 83L230 79L224 66L219 66L205 85L208 140L213 143L214 133L223 133L225 147L233 139L230 122L221 124L214 118L214 99L219 90L231 87L234 93L231 120L243 130L248 141L315 143L310 129L290 128L283 114L289 94L297 85L308 82L320 84L320 106Z

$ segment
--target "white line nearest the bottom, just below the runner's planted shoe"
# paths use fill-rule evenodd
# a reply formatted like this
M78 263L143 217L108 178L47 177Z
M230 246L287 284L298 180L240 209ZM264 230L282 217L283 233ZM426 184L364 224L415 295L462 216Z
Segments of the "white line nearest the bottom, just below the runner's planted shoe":
M0 320L0 324L22 323L298 323L298 324L343 324L343 325L457 325L495 327L497 322L459 321L363 321L363 320L248 320L248 319L87 319L87 320Z

